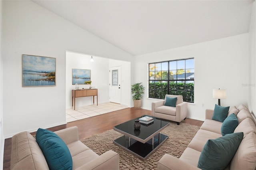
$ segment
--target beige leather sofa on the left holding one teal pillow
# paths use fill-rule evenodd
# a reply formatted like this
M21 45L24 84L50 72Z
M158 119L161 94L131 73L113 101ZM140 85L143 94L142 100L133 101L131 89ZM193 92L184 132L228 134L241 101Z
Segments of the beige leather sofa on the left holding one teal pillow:
M73 170L118 170L119 155L109 150L98 155L79 140L78 127L55 132L68 146ZM11 170L48 170L44 154L29 132L12 137Z

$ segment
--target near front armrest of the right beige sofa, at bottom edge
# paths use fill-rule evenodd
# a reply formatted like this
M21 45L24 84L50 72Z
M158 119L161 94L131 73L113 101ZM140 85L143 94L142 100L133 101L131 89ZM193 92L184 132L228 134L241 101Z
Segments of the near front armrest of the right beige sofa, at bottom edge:
M157 163L158 170L200 170L199 168L184 162L169 154L164 156Z

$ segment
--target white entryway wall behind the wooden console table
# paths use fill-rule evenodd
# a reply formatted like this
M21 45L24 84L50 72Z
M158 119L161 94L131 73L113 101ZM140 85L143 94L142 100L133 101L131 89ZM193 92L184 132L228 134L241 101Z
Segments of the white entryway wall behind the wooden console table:
M72 69L91 70L92 87L98 89L98 103L108 102L108 59L93 56L94 62L90 62L91 56L79 53L67 52L66 55L66 108L72 108ZM86 88L86 85L78 85L79 89ZM88 88L88 87L87 87ZM96 97L95 104L96 104ZM92 97L76 98L76 107L92 105Z

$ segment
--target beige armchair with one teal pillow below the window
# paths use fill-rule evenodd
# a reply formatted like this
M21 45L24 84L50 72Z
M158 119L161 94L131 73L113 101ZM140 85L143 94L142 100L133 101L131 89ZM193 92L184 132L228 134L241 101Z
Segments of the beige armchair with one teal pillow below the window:
M176 107L165 106L166 97L177 97ZM180 122L186 119L188 115L188 103L183 102L182 95L165 95L165 99L152 102L152 115L157 118L166 119L169 121Z

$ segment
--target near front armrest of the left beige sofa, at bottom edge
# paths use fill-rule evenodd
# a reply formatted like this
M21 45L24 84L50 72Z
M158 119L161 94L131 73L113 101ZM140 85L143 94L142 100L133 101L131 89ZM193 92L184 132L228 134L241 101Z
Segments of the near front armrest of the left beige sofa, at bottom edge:
M94 160L87 162L77 170L119 170L119 154L108 150Z

